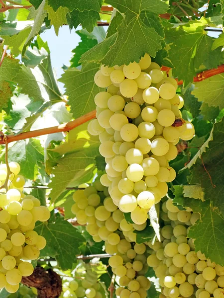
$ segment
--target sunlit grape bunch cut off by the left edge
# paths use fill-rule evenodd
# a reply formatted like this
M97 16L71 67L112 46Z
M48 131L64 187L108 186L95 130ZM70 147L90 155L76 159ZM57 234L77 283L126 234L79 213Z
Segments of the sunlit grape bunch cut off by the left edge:
M10 162L9 168L8 190L1 188L0 193L0 289L15 293L22 277L33 273L30 261L46 245L45 238L33 230L35 222L46 222L50 212L37 198L22 193L25 179L19 175L19 164ZM1 164L2 186L6 175L6 164Z

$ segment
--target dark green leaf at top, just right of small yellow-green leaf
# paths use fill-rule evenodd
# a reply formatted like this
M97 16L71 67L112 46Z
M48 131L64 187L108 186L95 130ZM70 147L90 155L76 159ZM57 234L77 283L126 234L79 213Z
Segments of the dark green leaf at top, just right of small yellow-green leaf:
M76 29L81 24L83 29L92 32L94 26L97 25L97 20L100 19L100 14L96 10L84 9L83 11L80 11L78 9L74 9L70 12L68 23L70 28L74 27Z

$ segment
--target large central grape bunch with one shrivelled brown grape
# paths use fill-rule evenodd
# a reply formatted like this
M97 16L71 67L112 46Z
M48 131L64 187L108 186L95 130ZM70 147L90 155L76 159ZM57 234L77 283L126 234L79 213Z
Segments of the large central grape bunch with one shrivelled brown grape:
M144 224L176 177L168 163L178 154L175 145L180 138L192 139L194 126L181 118L177 81L148 54L139 63L101 66L94 79L107 88L95 96L97 119L88 125L89 133L99 136L107 163L101 183L120 211Z

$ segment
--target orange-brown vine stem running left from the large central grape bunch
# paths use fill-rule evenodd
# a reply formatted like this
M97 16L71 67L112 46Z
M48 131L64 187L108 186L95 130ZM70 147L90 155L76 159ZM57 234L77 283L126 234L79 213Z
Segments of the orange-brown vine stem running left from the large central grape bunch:
M91 119L94 119L96 117L96 110L91 111L87 113L86 115L71 121L67 122L64 124L61 124L59 126L53 126L49 128L43 128L43 129L37 129L34 131L26 132L26 133L21 133L16 136L14 135L9 135L6 136L4 135L3 138L0 141L0 144L5 144L5 143L11 143L15 141L20 141L20 140L25 140L25 139L30 139L30 138L35 138L39 136L44 136L44 135L49 135L49 134L56 134L56 133L61 133L61 132L69 132L70 130L76 128L77 126L82 125L83 123L88 122ZM6 140L6 141L4 141Z

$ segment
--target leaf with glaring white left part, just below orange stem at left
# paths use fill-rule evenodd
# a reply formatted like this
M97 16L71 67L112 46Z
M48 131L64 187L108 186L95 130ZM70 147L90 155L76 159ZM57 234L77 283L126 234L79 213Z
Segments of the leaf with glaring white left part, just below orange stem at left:
M44 151L37 139L21 140L8 149L9 161L16 161L21 166L20 174L35 180L38 166L44 163ZM3 160L3 156L1 158Z

